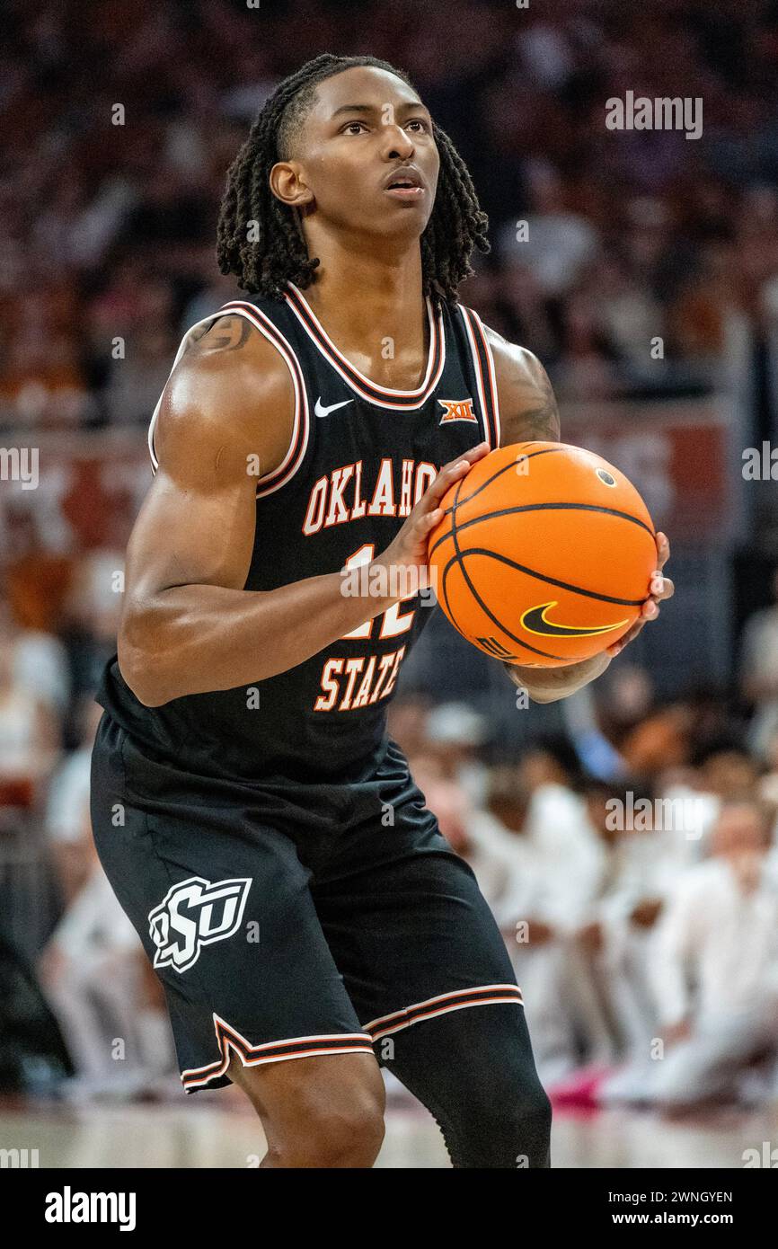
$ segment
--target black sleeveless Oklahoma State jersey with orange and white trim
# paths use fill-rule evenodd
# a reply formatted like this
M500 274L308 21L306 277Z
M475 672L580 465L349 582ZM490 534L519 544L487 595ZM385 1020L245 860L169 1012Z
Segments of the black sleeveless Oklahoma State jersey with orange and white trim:
M412 391L378 386L355 368L296 286L285 301L234 301L199 325L227 312L246 317L278 350L296 398L288 452L257 476L247 591L372 560L445 463L485 438L500 445L492 352L471 309L427 301L430 353ZM174 367L185 345L186 337ZM149 431L155 468L159 407ZM400 668L433 602L417 593L287 672L162 707L139 702L114 657L97 701L141 751L177 769L247 781L346 777L383 741ZM265 644L257 634L257 654Z

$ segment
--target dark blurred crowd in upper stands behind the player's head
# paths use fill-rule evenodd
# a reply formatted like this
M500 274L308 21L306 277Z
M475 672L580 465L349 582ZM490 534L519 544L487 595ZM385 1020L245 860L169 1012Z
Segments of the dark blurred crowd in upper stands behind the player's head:
M226 169L322 49L412 75L491 217L465 299L563 400L726 383L774 423L776 0L9 0L0 423L149 420L185 328L236 296ZM701 99L702 137L606 129L628 90Z

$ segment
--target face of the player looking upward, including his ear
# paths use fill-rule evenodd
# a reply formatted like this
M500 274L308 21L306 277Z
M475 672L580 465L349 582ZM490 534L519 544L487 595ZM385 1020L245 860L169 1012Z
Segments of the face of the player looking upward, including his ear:
M432 119L413 89L358 66L320 82L285 165L293 179L281 185L301 196L297 206L317 224L418 237L432 212L440 159Z

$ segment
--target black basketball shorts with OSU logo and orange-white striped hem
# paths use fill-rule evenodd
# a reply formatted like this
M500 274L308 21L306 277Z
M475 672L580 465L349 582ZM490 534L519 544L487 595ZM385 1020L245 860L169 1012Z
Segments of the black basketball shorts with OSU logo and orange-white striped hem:
M388 738L343 784L199 778L104 713L102 867L164 985L187 1092L246 1067L375 1053L452 1010L522 1005L471 868Z

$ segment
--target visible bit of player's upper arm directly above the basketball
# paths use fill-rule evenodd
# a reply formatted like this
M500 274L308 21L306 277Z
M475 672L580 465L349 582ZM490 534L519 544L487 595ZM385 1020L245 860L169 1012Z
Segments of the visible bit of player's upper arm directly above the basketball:
M500 445L559 441L559 410L542 363L526 347L487 328L500 400Z

